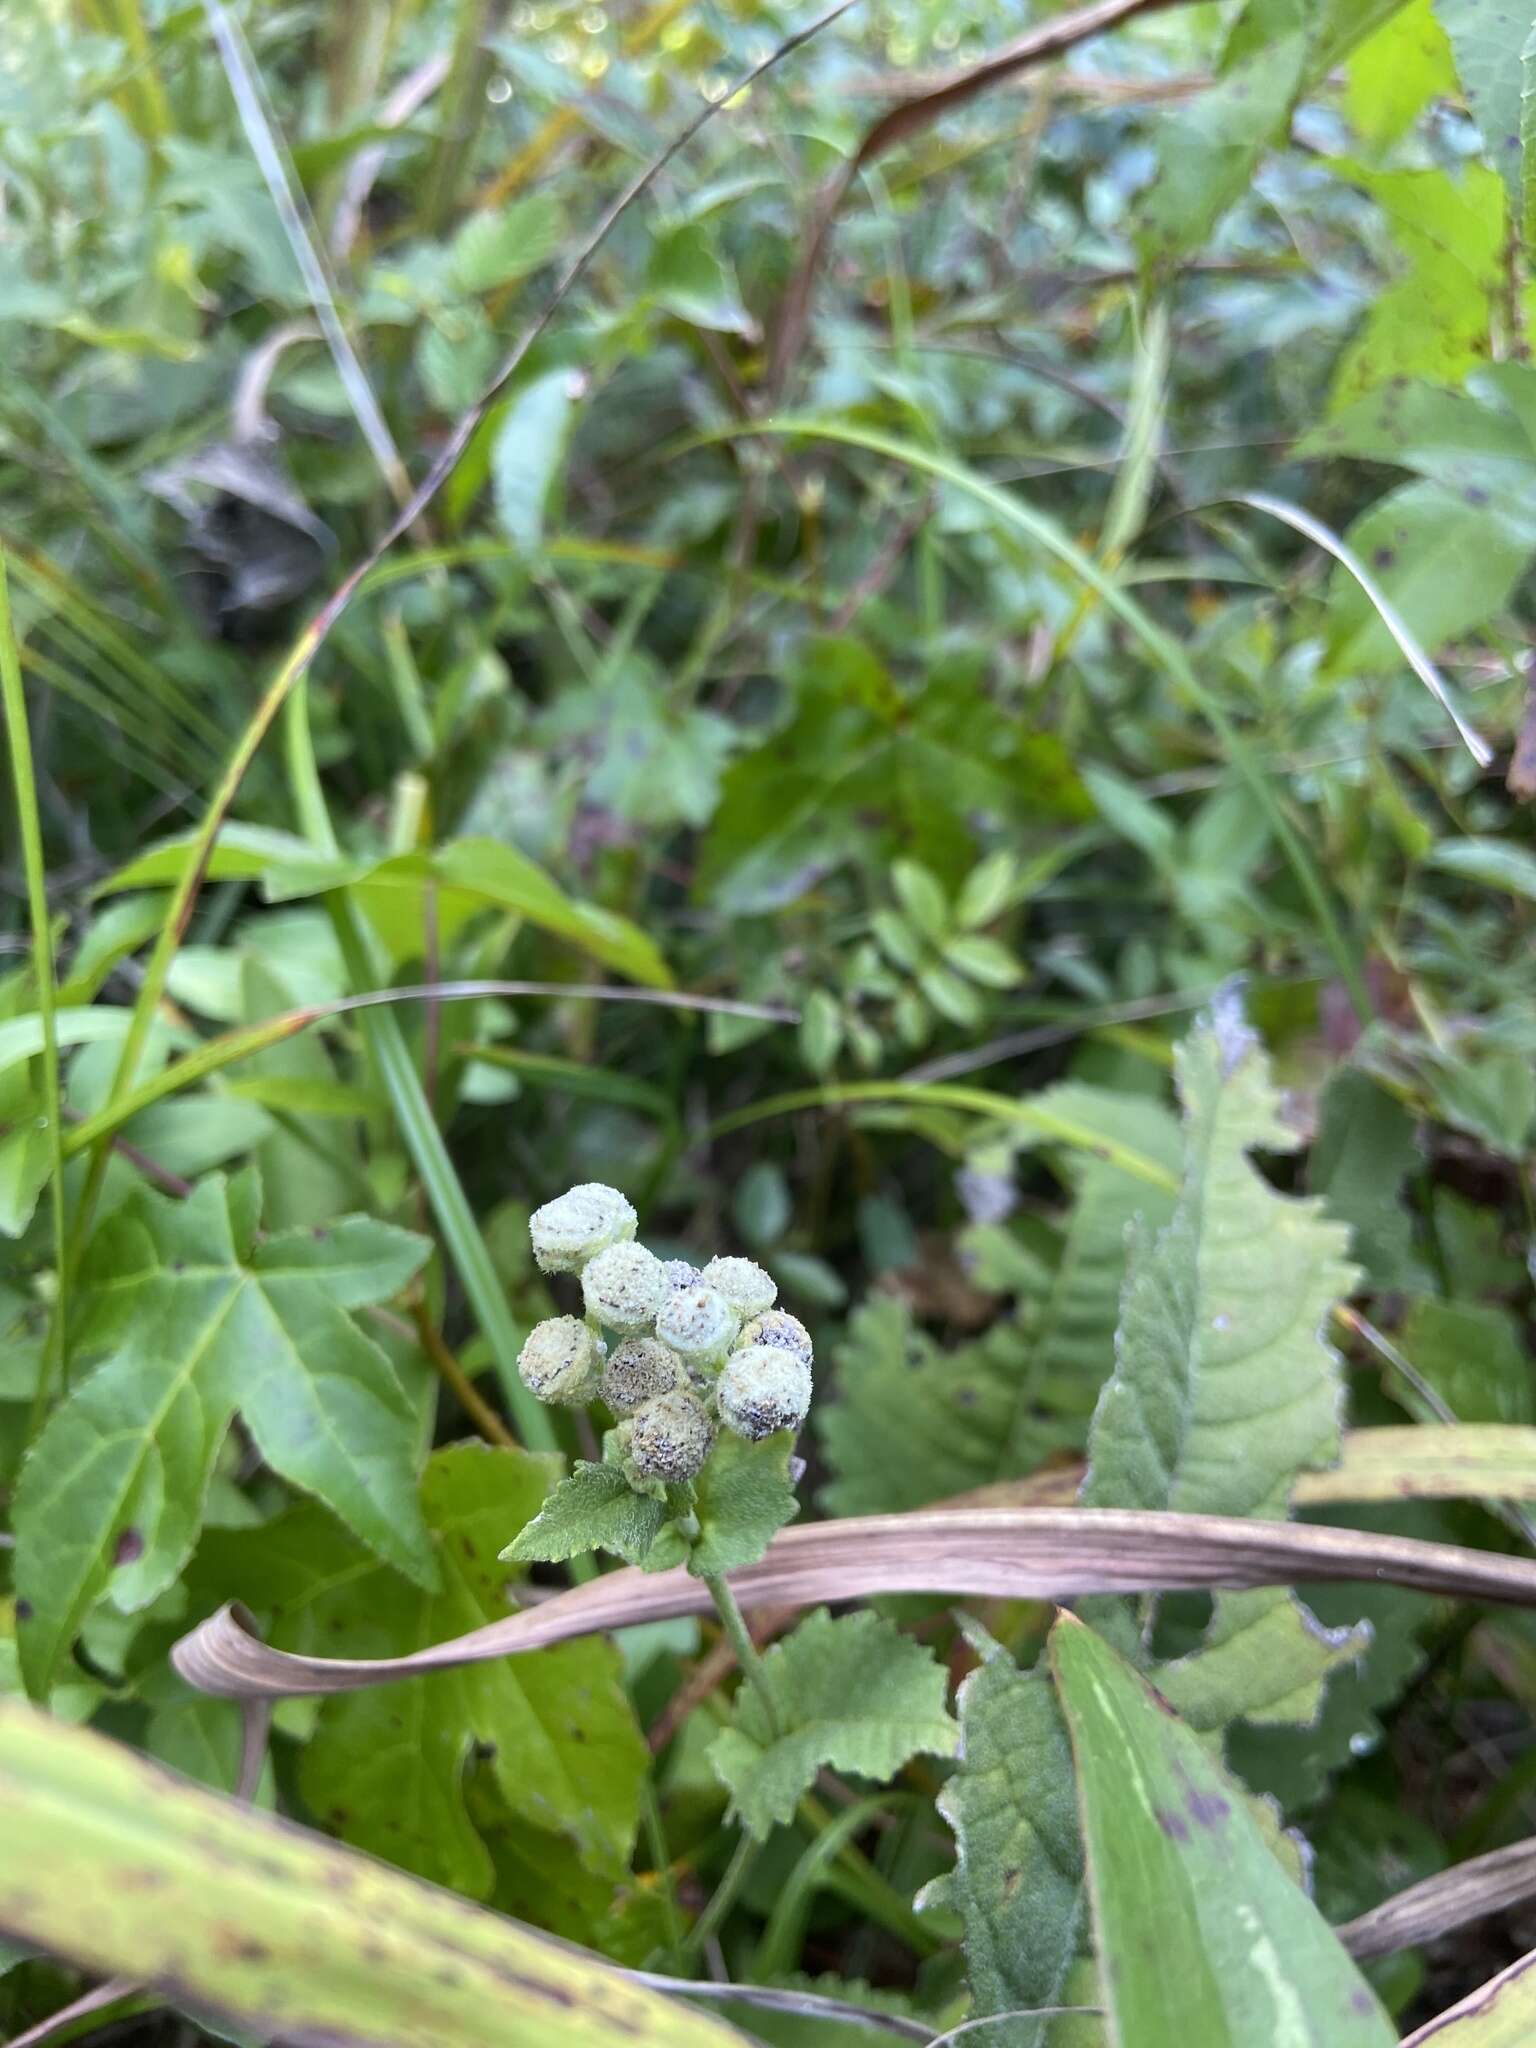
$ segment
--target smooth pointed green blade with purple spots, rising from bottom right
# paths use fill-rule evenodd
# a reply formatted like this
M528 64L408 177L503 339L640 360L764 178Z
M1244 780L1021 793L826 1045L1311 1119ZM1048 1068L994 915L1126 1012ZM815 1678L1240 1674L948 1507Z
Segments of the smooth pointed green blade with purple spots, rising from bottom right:
M1051 1632L1110 2034L1137 2048L1391 2048L1397 2030L1239 1786L1083 1622Z

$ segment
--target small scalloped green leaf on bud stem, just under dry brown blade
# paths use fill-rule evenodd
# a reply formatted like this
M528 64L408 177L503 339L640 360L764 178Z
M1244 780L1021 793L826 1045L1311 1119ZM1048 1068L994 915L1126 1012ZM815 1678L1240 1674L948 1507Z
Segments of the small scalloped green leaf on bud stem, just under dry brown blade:
M907 1757L950 1757L961 1731L944 1708L934 1655L879 1614L807 1614L762 1659L774 1726L756 1686L709 1749L741 1825L764 1839L795 1815L823 1765L879 1782Z

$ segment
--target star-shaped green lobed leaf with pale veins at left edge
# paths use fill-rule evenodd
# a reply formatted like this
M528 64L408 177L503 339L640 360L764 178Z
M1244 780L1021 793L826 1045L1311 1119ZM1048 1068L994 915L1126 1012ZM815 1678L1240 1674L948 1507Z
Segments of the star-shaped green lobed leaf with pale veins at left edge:
M420 1585L436 1579L416 1401L346 1313L403 1286L426 1239L346 1217L256 1243L258 1202L252 1174L213 1176L180 1202L141 1190L92 1239L76 1341L102 1362L53 1411L16 1487L35 1692L102 1593L135 1612L176 1577L236 1411L272 1470Z

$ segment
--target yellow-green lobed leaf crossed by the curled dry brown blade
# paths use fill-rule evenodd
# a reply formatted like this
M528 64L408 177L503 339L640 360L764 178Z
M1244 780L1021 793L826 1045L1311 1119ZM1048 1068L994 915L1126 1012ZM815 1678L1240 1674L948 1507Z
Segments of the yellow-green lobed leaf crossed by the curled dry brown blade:
M432 1454L422 1513L436 1593L381 1567L313 1507L211 1536L199 1569L225 1597L270 1610L281 1649L410 1655L506 1614L498 1550L537 1513L557 1470L547 1454L485 1444ZM618 1657L600 1638L338 1694L319 1710L299 1784L315 1819L344 1841L487 1898L492 1853L465 1792L475 1757L518 1823L561 1835L600 1876L627 1868L647 1751Z

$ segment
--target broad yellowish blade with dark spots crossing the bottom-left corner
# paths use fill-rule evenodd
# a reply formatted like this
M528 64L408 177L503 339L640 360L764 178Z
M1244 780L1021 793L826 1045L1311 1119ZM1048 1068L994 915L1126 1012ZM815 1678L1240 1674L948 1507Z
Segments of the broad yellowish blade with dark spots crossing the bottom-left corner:
M0 1704L0 1931L256 2038L358 2048L731 2048L709 2013L317 1835ZM123 1882L137 1872L137 1882ZM145 1872L156 1882L143 1882ZM317 1939L324 1929L324 1939ZM274 2015L281 2015L274 2017Z

